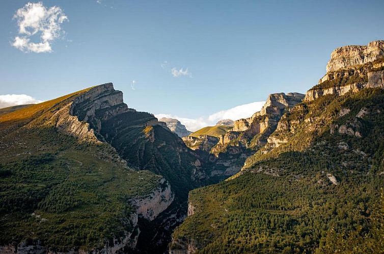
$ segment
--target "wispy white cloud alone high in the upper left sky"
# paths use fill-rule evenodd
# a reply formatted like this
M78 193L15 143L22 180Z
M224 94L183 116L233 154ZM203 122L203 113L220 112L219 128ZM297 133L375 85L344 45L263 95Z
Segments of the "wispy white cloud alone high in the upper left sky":
M52 52L51 43L59 38L64 31L61 24L68 20L58 6L46 8L43 3L28 3L16 11L13 16L17 20L18 33L12 46L22 52ZM30 37L40 33L40 42L31 42Z

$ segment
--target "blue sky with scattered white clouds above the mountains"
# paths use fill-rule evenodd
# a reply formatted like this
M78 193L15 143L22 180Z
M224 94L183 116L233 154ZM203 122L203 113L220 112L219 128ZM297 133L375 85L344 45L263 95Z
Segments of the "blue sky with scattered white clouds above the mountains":
M251 116L270 93L305 93L336 47L384 39L382 10L382 0L2 0L0 107L113 82L130 108L195 131Z

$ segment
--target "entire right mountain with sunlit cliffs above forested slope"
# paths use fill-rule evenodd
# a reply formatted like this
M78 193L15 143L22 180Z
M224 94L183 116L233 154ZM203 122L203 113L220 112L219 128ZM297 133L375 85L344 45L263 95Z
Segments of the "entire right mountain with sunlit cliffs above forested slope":
M305 97L272 95L291 103L235 122L256 133L245 143L254 153L227 181L189 193L170 253L383 253L382 45L336 49Z

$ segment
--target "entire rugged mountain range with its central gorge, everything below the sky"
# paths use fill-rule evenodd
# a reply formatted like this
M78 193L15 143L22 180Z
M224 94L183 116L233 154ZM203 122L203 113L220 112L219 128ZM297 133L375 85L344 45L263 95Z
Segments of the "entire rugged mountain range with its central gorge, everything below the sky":
M0 253L383 253L383 88L373 41L194 133L112 83L2 109Z

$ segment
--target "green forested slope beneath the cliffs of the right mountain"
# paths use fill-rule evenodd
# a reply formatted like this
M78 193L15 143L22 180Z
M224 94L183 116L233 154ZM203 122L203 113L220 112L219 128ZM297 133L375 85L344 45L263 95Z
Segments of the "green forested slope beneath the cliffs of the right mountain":
M191 191L196 213L176 229L174 239L193 242L198 253L323 253L338 246L381 253L382 240L375 239L384 235L374 230L380 220L371 213L384 216L378 203L384 184L384 90L324 96L308 104L304 117L323 117L323 125L317 131L299 126L289 143L253 158L246 173ZM341 107L351 112L333 120ZM371 112L362 120L363 138L330 134L330 122L346 123L362 107ZM291 117L300 119L303 112ZM341 150L340 142L348 150ZM312 148L306 149L310 143ZM260 169L266 174L256 173ZM339 184L332 185L326 173Z

